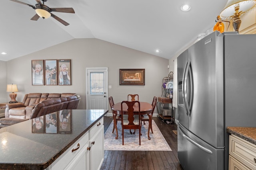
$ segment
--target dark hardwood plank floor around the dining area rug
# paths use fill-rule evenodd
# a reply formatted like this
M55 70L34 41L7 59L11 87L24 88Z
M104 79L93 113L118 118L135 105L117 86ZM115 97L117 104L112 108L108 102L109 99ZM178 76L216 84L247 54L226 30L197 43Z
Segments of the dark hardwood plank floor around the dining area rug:
M104 132L112 122L112 117L104 117ZM172 151L122 151L104 150L101 170L182 170L178 162L176 124L163 123L153 117ZM151 132L150 132L151 133Z

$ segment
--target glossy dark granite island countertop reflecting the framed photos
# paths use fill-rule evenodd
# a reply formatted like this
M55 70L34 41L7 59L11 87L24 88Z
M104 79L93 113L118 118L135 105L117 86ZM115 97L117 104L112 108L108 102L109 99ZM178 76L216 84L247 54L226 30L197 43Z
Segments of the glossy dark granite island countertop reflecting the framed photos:
M67 119L62 119L64 111L59 111L42 116L40 120L31 119L1 128L0 169L46 169L108 113L108 110L69 111L71 113L65 115L67 123L62 123ZM56 117L56 123L50 122L50 116L52 120Z

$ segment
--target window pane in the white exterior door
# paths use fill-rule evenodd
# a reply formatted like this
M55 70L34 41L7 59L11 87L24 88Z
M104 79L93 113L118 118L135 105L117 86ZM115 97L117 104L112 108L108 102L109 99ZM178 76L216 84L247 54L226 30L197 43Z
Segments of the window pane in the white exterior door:
M104 94L104 72L90 72L90 94Z

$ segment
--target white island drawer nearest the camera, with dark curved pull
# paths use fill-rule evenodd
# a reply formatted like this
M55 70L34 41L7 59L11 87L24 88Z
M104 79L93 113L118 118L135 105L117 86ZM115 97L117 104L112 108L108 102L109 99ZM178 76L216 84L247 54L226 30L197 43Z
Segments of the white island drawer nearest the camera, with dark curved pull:
M64 170L65 167L72 161L72 159L82 151L85 145L88 145L89 134L86 132L78 141L76 141L68 150L66 150L58 159L56 159L52 165L51 170ZM78 148L79 143L79 149ZM86 147L87 148L87 147ZM77 150L74 150L77 149ZM74 150L72 152L72 150Z

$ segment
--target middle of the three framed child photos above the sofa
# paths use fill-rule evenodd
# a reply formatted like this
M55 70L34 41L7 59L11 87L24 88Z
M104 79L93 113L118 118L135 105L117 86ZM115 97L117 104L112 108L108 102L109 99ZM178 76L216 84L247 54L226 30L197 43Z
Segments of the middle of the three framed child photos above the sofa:
M44 82L45 85L58 85L58 66L57 60L45 60L44 61Z

